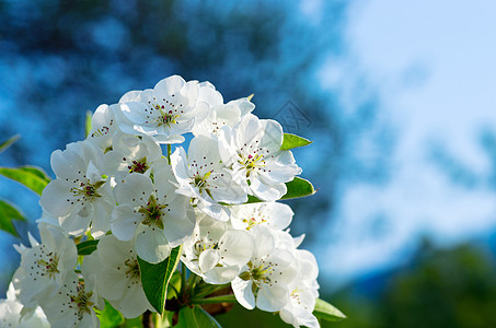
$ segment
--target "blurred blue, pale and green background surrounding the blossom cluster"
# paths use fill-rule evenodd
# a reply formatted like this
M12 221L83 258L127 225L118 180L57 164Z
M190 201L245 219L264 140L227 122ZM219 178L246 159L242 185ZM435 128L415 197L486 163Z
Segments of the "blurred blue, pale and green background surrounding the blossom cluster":
M290 202L291 232L349 317L328 327L496 327L494 1L0 0L0 141L22 136L1 165L53 176L86 110L174 73L254 93L314 141L295 150L319 192ZM1 177L0 198L26 243L38 198ZM13 243L0 232L0 297Z

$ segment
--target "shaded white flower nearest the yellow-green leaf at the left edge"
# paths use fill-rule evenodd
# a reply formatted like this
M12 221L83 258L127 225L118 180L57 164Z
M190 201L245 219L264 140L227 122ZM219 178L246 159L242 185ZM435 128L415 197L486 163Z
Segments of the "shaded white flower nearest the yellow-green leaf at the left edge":
M41 206L69 234L81 235L90 224L93 236L105 234L114 200L103 177L103 152L88 142L70 143L55 151L50 163L57 179L43 190Z

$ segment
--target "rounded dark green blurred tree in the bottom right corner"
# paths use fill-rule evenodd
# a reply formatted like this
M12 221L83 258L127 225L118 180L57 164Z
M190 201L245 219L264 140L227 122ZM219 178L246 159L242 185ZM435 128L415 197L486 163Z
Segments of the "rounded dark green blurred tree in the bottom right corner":
M487 249L426 246L417 265L400 272L384 294L391 327L496 327L496 266Z

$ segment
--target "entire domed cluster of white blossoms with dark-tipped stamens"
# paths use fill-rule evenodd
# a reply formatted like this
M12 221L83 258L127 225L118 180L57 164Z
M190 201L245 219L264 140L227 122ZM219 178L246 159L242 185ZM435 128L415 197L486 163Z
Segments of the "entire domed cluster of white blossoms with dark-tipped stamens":
M289 234L291 209L276 202L301 168L281 150L281 126L254 107L177 75L101 105L88 138L51 154L41 243L18 247L19 327L41 309L54 328L97 327L104 300L126 318L153 311L137 257L158 263L181 244L187 268L231 283L242 306L318 327L316 261ZM78 257L85 239L97 249Z

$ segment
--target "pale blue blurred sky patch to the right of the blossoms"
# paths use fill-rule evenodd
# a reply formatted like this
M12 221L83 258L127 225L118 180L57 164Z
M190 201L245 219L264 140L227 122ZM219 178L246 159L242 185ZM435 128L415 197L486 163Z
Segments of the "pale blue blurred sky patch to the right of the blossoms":
M311 1L302 12L325 20L320 5ZM419 236L449 246L494 231L494 189L455 184L431 154L441 147L475 175L491 175L478 140L481 129L496 131L495 27L494 1L374 0L349 9L349 56L330 58L319 79L353 112L355 77L366 77L396 141L389 183L349 185L331 237L321 236L328 241L321 270L337 284L404 263ZM361 143L366 161L374 149Z

